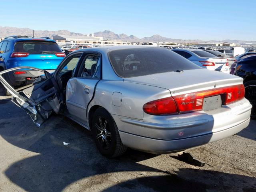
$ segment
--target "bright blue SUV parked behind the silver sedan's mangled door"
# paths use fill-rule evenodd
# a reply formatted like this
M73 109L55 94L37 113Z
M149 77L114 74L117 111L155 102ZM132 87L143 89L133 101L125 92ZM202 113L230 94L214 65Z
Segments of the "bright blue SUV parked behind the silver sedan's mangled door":
M53 72L65 56L50 38L10 36L0 42L0 71L30 66ZM30 84L40 75L41 72L24 69L9 72L5 78L15 87ZM4 86L1 88L5 95L9 95Z

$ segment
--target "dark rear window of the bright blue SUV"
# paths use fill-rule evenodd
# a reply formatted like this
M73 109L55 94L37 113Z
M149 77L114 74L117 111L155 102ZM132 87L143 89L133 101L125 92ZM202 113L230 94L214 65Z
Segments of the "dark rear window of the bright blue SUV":
M14 52L26 52L29 54L54 54L62 52L55 42L49 41L21 41L16 42Z

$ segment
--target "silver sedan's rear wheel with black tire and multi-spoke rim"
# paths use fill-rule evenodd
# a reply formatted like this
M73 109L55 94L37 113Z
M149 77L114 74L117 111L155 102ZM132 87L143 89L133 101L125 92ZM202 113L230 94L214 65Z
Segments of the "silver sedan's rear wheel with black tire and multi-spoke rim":
M94 112L92 136L100 153L108 158L120 156L127 147L122 144L116 122L102 107Z

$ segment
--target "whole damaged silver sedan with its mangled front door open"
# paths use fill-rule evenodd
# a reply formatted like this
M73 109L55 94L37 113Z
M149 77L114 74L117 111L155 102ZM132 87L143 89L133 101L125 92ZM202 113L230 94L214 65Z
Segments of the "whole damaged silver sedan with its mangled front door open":
M127 147L155 154L182 151L232 136L250 122L242 78L206 70L166 48L78 50L54 74L23 67L45 76L14 90L3 75L20 68L0 72L12 101L38 126L52 112L68 116L92 131L107 157Z

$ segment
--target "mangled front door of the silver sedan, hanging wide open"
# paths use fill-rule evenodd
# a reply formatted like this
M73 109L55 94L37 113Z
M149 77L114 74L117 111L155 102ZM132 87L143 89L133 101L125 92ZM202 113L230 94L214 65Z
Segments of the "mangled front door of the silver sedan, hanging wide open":
M44 78L38 78L39 82L34 82L29 86L25 86L24 88L19 88L15 90L6 82L4 77L2 76L4 73L22 69L24 67L16 67L8 70L4 70L0 72L0 82L4 85L4 87L12 94L12 102L16 104L18 107L25 110L33 122L40 126L45 120L47 120L52 113L52 108L50 104L47 102L49 98L54 98L57 90L54 88L53 81L54 79L51 75L38 68L25 67L26 69L38 70L40 72L48 73Z

